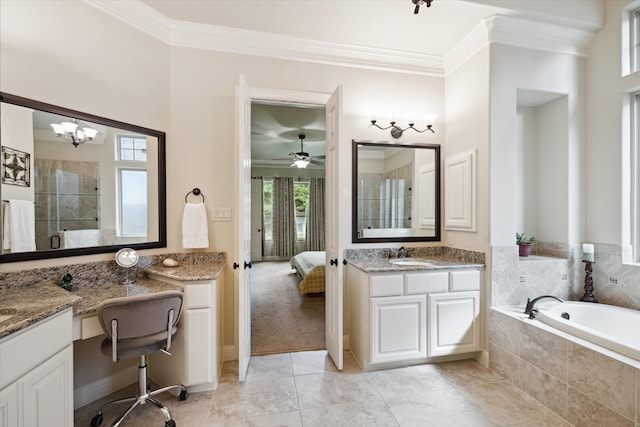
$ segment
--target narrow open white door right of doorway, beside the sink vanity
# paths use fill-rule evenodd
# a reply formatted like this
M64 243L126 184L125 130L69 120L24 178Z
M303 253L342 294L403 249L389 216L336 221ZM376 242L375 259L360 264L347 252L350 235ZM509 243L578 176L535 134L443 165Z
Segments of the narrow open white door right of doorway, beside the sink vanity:
M346 171L350 168L340 149L340 115L342 109L342 86L338 86L326 106L326 284L325 284L325 344L336 367L342 370L343 349L343 286L342 243L346 224L340 221L341 180L348 183ZM342 157L342 160L340 158ZM348 187L348 184L347 184Z

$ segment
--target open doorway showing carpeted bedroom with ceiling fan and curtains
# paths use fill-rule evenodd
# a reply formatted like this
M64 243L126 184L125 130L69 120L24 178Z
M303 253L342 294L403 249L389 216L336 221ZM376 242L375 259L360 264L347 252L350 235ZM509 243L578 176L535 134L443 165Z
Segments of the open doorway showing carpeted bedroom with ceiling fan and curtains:
M252 355L325 348L324 295L301 294L289 263L309 249L324 250L324 200L322 224L312 227L318 218L309 197L311 182L324 184L324 159L324 105L252 100ZM291 206L282 206L283 188ZM282 209L293 214L283 218ZM320 246L310 228L322 230Z

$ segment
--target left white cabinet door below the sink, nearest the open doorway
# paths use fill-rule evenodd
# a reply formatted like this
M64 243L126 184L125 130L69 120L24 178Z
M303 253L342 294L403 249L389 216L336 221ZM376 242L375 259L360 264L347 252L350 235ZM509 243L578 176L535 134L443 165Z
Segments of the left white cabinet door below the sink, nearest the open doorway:
M371 298L371 363L426 358L425 295Z

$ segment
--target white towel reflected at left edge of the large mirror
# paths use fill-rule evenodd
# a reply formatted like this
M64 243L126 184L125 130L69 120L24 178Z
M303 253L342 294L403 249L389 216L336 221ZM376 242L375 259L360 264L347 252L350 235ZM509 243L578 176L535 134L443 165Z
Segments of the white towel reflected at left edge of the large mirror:
M9 200L4 209L2 248L11 253L36 250L35 208L30 200Z

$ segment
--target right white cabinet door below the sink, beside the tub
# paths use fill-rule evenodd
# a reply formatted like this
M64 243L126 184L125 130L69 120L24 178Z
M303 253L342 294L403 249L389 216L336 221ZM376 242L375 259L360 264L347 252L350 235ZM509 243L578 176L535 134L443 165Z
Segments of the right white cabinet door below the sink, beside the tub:
M429 357L480 350L480 292L431 294Z

